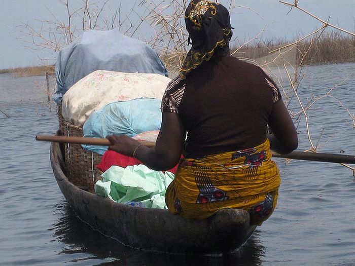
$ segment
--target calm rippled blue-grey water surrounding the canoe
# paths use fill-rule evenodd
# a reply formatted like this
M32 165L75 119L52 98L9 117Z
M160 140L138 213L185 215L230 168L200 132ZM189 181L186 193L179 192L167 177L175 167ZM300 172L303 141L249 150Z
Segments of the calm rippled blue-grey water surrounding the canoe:
M355 112L355 64L304 73L303 102L309 89L319 97L337 85L332 95ZM355 180L339 164L275 159L282 177L278 206L245 246L226 257L147 253L93 231L60 193L49 143L34 140L58 126L38 89L44 83L42 77L0 74L0 265L355 265ZM355 155L355 130L338 101L319 100L309 119L320 152ZM300 148L308 148L304 121L298 130Z

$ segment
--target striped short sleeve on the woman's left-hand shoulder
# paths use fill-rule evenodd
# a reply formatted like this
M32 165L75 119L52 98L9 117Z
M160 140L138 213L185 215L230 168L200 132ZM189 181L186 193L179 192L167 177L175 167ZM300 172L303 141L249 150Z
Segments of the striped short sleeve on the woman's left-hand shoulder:
M185 91L185 79L176 77L166 87L161 101L161 112L179 113L179 105Z

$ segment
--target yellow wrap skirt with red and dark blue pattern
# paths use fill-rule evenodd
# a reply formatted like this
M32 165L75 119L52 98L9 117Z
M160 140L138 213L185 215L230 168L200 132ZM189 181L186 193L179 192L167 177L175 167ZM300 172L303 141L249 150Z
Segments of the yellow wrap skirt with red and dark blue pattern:
M267 139L254 148L182 159L165 201L170 212L185 218L205 219L237 208L250 213L251 224L261 225L276 206L279 185Z

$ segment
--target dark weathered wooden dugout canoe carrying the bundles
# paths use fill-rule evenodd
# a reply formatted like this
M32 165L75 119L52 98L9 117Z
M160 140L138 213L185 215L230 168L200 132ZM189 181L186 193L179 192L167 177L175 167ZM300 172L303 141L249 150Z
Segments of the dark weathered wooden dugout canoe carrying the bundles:
M84 191L69 181L61 145L52 142L51 165L59 188L84 222L136 249L180 254L224 254L253 234L247 211L225 209L205 220L184 219L167 210L132 207Z

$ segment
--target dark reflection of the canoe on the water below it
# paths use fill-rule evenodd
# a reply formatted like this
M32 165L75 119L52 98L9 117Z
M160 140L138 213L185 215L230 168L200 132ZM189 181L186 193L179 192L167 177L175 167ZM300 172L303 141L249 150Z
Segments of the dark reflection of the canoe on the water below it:
M253 236L239 251L222 257L171 255L132 249L117 240L105 237L81 221L66 202L56 206L58 220L53 224L57 241L65 243L61 254L75 255L67 262L86 261L92 265L262 265L265 248L258 240L260 232ZM169 237L168 235L166 237ZM173 241L173 239L171 240ZM72 257L72 256L70 256ZM99 262L95 262L99 260Z

